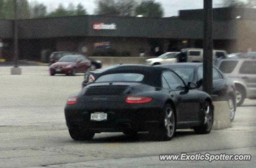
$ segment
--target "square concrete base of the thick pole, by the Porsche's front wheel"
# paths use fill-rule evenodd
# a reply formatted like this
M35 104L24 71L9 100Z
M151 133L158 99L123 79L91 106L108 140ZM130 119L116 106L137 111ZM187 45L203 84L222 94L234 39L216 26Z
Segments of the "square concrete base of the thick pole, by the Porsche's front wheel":
M213 102L214 104L214 122L212 125L213 130L220 130L230 128L230 111L228 108L228 102L219 101Z

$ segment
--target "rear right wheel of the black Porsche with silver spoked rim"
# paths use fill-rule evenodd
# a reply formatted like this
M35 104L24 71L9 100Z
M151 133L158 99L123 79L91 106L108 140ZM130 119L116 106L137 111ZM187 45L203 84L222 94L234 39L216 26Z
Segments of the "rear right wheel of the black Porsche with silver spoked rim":
M168 141L174 137L175 130L176 118L174 108L170 104L166 104L164 107L160 128L154 132L154 136L157 140Z

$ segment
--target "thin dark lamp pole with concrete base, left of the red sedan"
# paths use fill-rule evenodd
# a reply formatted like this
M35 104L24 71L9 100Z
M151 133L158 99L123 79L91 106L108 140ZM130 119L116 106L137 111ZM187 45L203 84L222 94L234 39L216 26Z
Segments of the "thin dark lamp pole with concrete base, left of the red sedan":
M11 68L12 75L20 75L21 68L18 67L18 25L17 25L17 0L14 2L14 67Z

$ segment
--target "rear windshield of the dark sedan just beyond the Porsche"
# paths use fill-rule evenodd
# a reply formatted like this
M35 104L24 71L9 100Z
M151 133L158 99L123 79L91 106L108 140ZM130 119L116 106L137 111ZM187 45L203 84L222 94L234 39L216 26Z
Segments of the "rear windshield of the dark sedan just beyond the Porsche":
M194 78L194 68L188 66L173 66L171 67L185 82L192 82Z

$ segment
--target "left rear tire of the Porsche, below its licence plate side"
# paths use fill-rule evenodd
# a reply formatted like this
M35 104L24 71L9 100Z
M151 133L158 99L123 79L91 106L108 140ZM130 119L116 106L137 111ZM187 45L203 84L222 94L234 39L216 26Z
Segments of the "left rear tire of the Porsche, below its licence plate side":
M91 140L95 135L93 132L83 132L81 130L69 129L68 132L73 140Z

